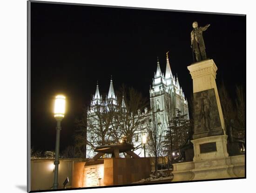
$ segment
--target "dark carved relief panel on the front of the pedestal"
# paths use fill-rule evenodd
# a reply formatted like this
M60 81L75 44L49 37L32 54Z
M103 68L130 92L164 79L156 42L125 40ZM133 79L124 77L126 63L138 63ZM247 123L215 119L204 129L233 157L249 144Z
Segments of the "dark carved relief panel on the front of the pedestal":
M214 89L194 93L194 135L222 130Z

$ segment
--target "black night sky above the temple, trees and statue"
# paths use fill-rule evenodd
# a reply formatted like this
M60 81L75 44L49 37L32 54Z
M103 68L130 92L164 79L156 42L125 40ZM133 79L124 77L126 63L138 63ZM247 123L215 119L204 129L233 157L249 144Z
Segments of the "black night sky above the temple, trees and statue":
M130 8L31 3L31 145L54 150L56 94L67 97L62 121L61 151L73 144L74 119L80 117L95 93L122 83L149 100L149 85L157 56L163 73L170 51L172 73L189 99L193 62L190 32L193 21L211 24L203 32L206 53L218 67L217 86L224 80L234 98L235 86L245 88L246 17L181 13Z

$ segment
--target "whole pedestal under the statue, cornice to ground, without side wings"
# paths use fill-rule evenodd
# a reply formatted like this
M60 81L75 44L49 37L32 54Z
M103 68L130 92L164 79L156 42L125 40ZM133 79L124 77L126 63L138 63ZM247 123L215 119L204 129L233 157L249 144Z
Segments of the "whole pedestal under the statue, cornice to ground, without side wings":
M194 93L193 180L235 177L227 151L227 135L216 86L217 67L204 60L188 67Z

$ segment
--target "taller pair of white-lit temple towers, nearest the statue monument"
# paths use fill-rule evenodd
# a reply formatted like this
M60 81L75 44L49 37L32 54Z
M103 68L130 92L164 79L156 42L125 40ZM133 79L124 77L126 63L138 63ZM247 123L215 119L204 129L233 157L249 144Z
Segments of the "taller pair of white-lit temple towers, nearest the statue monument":
M165 74L162 73L160 63L157 61L156 73L149 94L150 107L156 115L156 121L163 124L162 133L167 130L168 117L175 116L176 109L179 109L182 114L187 114L187 119L189 119L188 100L185 99L178 77L175 79L172 74L168 56L166 57ZM170 116L167 115L167 112L170 113Z

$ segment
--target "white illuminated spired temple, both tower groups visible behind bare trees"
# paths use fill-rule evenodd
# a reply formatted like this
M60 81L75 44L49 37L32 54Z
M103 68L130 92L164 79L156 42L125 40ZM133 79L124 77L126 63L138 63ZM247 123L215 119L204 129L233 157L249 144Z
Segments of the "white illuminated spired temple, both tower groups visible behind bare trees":
M150 86L149 89L149 95L150 95L150 107L151 112L145 109L144 117L150 116L152 117L153 114L155 115L156 121L158 124L162 124L161 129L164 134L164 131L167 130L167 121L168 121L168 115L167 111L171 113L171 116L175 116L176 109L179 109L182 114L187 115L187 119L189 119L189 109L188 109L188 101L185 99L185 95L182 91L182 87L179 84L178 77L172 74L170 63L168 60L168 55L166 57L166 70L165 74L162 73L160 68L160 63L157 61L157 67L156 72L154 74L152 86ZM113 86L113 80L111 78L108 95L106 96L106 99L102 99L102 96L100 95L99 91L99 85L97 83L95 94L93 95L93 98L91 100L90 106L88 107L87 112L87 119L92 119L93 116L95 116L95 106L102 105L107 106L109 103L113 104L114 106L117 104L117 97L115 95L115 90ZM121 105L125 107L125 102L122 99ZM168 107L167 107L168 106ZM167 110L168 108L168 110ZM150 119L150 118L149 118ZM96 120L96 119L94 119ZM141 145L142 142L142 136L147 135L146 131L146 124L145 124L145 132L143 133L135 133L134 139L133 139L133 145L135 147L140 147L137 150L135 150L135 153L141 157L144 157L144 149ZM92 139L94 138L94 134L87 132L87 139L92 143ZM95 145L95 144L94 144ZM96 146L96 145L95 145ZM94 148L87 145L87 157L91 158L95 155ZM146 153L147 156L147 153Z

